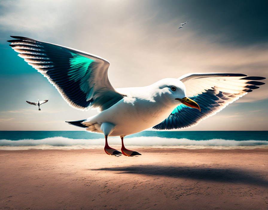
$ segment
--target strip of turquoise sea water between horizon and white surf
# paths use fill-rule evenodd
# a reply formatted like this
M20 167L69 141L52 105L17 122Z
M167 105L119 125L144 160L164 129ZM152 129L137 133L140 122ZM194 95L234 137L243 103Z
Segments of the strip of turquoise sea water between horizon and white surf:
M86 131L0 131L0 139L44 139L51 137L65 137L71 139L104 138L103 134ZM268 140L268 131L143 131L125 138L157 136L162 138L187 138L190 140ZM119 138L119 137L118 137Z

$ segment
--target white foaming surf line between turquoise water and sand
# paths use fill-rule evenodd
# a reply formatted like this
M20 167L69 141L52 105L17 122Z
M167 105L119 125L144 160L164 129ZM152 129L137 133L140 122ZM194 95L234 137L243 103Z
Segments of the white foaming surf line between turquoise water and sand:
M22 139L22 140L0 140L0 149L3 149L5 146L39 146L47 145L53 147L63 147L63 146L76 146L77 149L83 149L85 147L90 148L92 146L103 146L104 138L100 139L71 139L65 137L52 137L52 138L44 138L39 140L33 139ZM121 145L121 139L118 137L110 137L108 138L110 145ZM192 149L196 149L195 146L200 147L266 147L268 146L268 141L261 140L244 140L244 141L236 141L236 140L225 140L225 139L211 139L211 140L190 140L186 138L176 139L176 138L161 138L161 137L133 137L133 138L125 138L125 145L127 146L150 146L150 147L167 147L167 146L187 146L193 147ZM60 149L60 148L58 148ZM222 148L221 148L222 149Z

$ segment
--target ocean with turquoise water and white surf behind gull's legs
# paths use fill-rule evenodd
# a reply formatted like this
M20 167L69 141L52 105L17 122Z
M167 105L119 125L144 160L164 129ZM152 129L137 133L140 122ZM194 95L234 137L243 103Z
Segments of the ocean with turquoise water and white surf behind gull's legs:
M0 146L103 146L103 134L86 131L0 131ZM120 145L119 137L109 137ZM124 138L126 146L268 146L268 131L143 131ZM82 147L83 148L83 147Z

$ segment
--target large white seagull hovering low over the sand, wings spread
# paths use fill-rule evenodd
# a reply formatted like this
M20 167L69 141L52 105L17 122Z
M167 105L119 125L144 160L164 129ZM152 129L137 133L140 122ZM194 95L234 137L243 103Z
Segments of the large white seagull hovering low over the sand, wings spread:
M99 109L97 115L67 123L103 133L108 155L141 155L124 146L126 135L153 129L181 129L220 112L253 89L264 77L238 73L188 73L145 87L115 89L108 79L109 62L72 48L11 36L10 46L44 75L62 98L79 110ZM108 136L120 136L121 152L109 146Z

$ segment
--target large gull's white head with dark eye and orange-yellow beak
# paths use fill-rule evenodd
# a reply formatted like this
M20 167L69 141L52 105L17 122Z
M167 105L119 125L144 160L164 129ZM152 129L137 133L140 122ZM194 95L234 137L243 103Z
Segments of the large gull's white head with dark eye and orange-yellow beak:
M156 90L154 98L158 98L158 100L165 101L168 104L177 106L184 104L200 110L199 105L187 97L185 85L179 79L165 78L154 83L152 86Z

